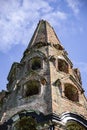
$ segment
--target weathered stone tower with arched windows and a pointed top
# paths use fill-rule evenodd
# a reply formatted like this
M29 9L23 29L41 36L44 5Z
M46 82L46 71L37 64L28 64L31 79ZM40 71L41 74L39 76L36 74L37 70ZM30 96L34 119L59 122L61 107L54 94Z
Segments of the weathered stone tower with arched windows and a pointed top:
M7 79L7 91L0 92L0 130L87 129L80 71L47 21L39 21Z

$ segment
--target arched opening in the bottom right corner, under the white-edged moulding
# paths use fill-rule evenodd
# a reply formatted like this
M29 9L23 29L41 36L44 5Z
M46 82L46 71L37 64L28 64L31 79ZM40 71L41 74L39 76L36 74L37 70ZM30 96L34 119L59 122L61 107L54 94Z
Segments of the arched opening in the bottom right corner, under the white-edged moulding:
M66 124L66 130L86 130L86 128L78 122L68 121Z

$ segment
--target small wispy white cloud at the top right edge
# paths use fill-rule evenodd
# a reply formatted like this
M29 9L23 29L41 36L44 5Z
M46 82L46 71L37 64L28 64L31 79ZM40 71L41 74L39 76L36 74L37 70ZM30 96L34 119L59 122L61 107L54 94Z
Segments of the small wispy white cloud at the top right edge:
M72 9L74 14L79 13L79 5L80 5L79 0L66 0L66 2L68 4L68 6Z

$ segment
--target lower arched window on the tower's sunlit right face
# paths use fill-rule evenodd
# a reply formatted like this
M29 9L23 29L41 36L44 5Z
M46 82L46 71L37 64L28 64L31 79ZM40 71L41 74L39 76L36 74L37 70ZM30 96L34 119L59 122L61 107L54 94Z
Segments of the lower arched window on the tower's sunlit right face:
M78 90L71 84L65 84L65 96L71 101L79 101Z

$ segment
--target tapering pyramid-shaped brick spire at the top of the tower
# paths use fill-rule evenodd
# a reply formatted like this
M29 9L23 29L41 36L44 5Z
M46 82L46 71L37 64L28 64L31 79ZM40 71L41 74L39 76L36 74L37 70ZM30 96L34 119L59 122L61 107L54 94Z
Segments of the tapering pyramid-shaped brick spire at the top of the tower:
M39 21L28 48L31 48L38 43L50 43L51 45L61 46L53 27L46 20ZM61 48L63 47L61 46Z

